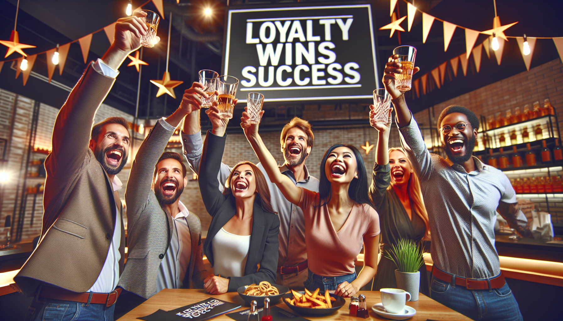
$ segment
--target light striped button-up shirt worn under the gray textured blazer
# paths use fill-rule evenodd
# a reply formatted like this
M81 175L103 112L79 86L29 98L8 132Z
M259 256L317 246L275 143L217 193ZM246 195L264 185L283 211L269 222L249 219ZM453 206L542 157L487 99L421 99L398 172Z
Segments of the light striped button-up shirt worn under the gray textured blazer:
M172 238L166 255L160 262L157 275L157 292L164 288L189 288L184 277L191 260L191 234L186 218L190 212L178 201L180 213L172 219Z

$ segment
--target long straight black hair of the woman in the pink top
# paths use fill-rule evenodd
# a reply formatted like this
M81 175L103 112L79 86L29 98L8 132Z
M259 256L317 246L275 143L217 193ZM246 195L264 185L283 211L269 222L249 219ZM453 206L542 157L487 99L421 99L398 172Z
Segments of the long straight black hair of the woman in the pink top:
M319 206L326 205L330 201L330 181L327 178L327 174L324 172L324 166L327 164L328 155L337 147L350 148L352 152L354 152L354 156L356 156L358 178L352 178L352 182L350 182L350 186L348 187L348 196L358 204L368 204L372 206L372 202L370 202L368 196L368 173L365 170L364 159L361 158L358 148L348 144L330 146L328 151L324 153L323 160L320 162Z

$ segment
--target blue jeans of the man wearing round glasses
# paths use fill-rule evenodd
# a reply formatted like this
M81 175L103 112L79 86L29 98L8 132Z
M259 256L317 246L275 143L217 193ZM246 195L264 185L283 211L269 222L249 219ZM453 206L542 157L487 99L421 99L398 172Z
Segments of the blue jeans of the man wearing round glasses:
M430 297L468 318L479 321L522 321L518 302L508 284L489 290L467 290L432 275Z

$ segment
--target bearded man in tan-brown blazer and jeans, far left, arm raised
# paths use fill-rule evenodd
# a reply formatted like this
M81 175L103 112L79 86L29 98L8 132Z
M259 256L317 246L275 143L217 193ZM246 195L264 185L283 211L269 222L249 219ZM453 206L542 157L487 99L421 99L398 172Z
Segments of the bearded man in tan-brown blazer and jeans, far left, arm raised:
M26 320L113 320L125 246L115 174L127 162L131 138L122 118L92 123L117 69L147 34L144 16L117 21L113 44L88 64L57 115L45 160L41 238L14 278L34 296Z

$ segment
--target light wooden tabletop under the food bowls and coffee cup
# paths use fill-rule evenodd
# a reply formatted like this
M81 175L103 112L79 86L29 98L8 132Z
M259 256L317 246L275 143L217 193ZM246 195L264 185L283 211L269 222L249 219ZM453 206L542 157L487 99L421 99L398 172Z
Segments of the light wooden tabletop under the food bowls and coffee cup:
M381 302L381 293L379 291L360 291L359 293L365 295L365 301L367 302L368 309L369 309L369 316L370 319L375 320L387 320L385 318L379 317L379 315L373 313L372 305ZM205 290L195 290L195 289L164 289L149 300L146 300L143 304L137 306L137 308L129 311L126 315L122 318L119 318L118 321L133 321L138 320L137 317L144 317L145 315L149 315L154 313L158 309L162 310L172 310L180 308L181 306L193 304L198 301L202 301L207 299L208 297L215 297L217 299L221 299L224 301L235 302L242 304L243 307L240 309L236 309L234 311L248 309L248 306L244 306L244 301L240 298L237 292L227 292L221 295L209 295L205 293ZM350 303L350 298L346 299L346 304L342 306L341 309L337 310L333 314L324 315L323 317L313 317L310 315L303 315L303 317L311 320L338 320L338 321L360 321L357 317L350 317L348 315L348 304ZM415 310L417 310L417 314L414 317L408 319L409 321L426 321L426 319L431 320L448 320L448 321L471 321L470 318L465 317L462 314L457 313L456 311L442 305L432 299L423 295L422 293L418 293L418 301L415 302L406 302L406 305L412 306ZM280 308L283 308L288 311L292 311L292 313L297 314L295 311L288 308L281 300L277 304ZM234 312L231 311L230 313ZM233 319L227 317L225 314L221 314L218 317L213 318L214 321L234 321Z

